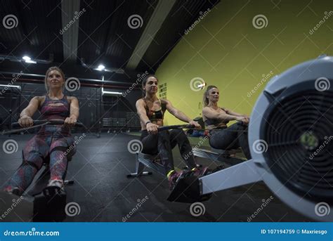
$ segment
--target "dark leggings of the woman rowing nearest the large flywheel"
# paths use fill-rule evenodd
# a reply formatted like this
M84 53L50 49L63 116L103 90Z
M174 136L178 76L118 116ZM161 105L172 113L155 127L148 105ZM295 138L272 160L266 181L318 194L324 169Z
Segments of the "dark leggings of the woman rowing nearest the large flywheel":
M230 150L241 147L245 157L251 159L249 141L247 140L247 126L236 123L226 129L213 129L209 131L209 134L209 145L212 148Z

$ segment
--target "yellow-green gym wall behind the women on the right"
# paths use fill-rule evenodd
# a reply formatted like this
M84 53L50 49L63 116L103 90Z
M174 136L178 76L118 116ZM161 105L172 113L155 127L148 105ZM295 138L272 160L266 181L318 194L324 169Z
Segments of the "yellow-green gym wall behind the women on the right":
M200 77L219 87L219 106L250 114L268 82L263 76L273 77L322 53L332 56L333 1L279 1L222 0L207 11L156 72L159 84L167 82L171 103L192 118L200 116L204 90L190 89L191 79ZM261 29L252 24L259 14L268 20ZM249 94L258 84L259 90ZM166 115L164 124L179 122Z

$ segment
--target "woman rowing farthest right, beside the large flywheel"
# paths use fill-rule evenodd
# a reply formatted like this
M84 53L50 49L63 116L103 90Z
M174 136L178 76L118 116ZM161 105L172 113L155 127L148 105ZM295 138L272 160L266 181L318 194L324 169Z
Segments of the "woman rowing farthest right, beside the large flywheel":
M216 149L236 149L241 147L247 159L251 159L249 141L247 140L247 124L249 117L226 108L219 108L219 92L216 86L208 86L204 92L202 118L206 129L209 129L209 145ZM227 126L229 121L236 120L240 123Z

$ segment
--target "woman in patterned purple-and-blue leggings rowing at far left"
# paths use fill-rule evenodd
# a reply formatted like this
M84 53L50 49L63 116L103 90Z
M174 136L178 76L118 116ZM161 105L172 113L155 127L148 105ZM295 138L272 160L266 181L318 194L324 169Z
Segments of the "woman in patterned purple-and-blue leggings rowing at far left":
M50 67L44 81L46 95L34 96L27 108L20 113L18 123L23 128L32 126L32 116L39 110L41 119L63 119L64 125L42 126L27 142L22 151L22 164L4 188L15 195L22 195L48 156L50 179L47 188L63 190L68 157L65 152L74 144L70 126L74 126L79 117L79 102L75 97L64 95L65 75L59 67ZM74 152L71 153L73 154Z

